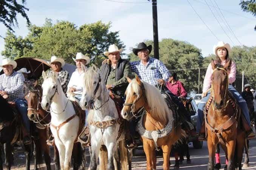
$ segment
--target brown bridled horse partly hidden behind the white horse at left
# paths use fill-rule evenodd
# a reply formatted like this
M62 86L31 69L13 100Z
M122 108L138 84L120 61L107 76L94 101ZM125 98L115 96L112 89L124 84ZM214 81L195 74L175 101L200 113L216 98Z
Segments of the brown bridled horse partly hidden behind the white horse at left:
M26 93L25 99L28 102L28 117L31 121L37 124L41 130L40 141L42 142L42 147L45 152L49 154L49 147L46 145L46 140L49 138L49 124L51 122L51 114L46 112L41 107L42 100L42 88L36 84L36 82L25 83ZM84 151L84 150L83 150ZM75 143L72 151L72 164L73 168L79 169L82 167L82 161L84 159L84 154L82 152L82 147L80 143ZM57 147L54 145L54 163L55 169L60 169L59 162L59 152ZM84 163L84 162L83 162ZM47 167L47 165L46 165Z

